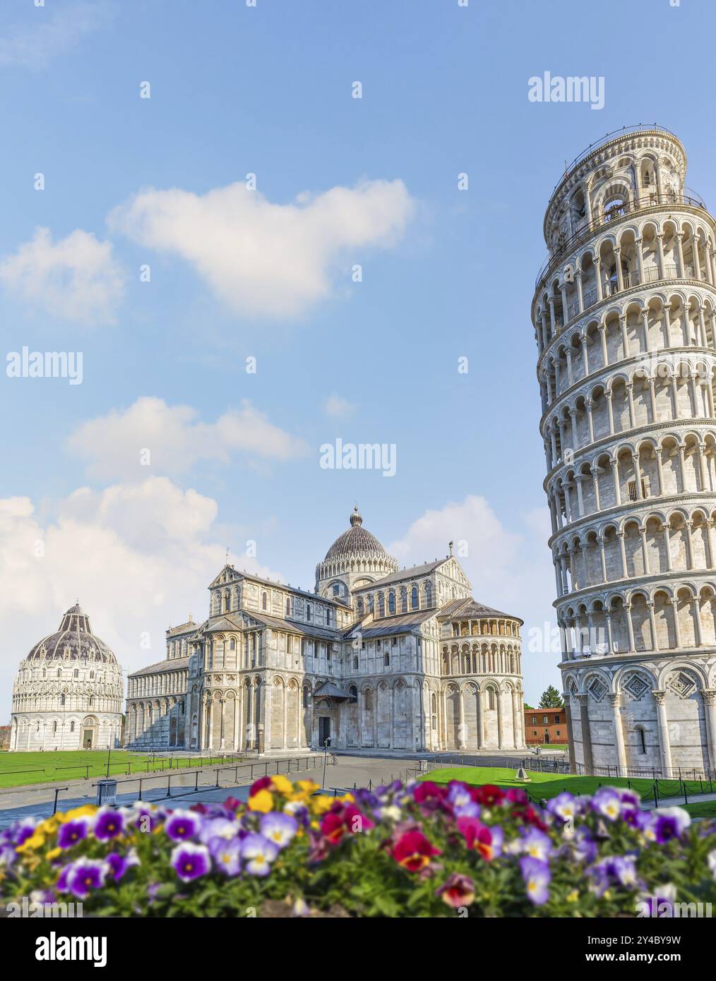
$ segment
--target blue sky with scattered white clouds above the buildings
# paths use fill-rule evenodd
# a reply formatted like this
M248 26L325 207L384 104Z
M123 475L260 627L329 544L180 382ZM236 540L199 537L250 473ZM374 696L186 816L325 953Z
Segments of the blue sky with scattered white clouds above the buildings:
M3 346L81 351L83 382L0 376L0 716L76 596L136 669L205 616L226 545L311 587L356 502L402 563L468 542L476 597L541 628L544 209L587 144L654 121L716 200L715 21L696 0L4 4ZM528 101L545 71L604 77L604 108ZM396 476L321 469L337 438L395 443ZM558 658L526 647L534 701Z

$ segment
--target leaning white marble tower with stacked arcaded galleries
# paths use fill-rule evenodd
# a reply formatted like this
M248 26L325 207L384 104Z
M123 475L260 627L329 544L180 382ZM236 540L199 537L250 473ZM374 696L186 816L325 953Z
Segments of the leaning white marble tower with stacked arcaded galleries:
M532 322L579 769L716 770L716 222L667 129L610 133L544 218Z

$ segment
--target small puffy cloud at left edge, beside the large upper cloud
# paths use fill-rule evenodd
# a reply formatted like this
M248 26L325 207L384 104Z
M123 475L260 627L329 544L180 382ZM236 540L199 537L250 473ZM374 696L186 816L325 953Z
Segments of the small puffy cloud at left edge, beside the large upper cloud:
M0 262L0 283L11 295L53 316L113 323L124 274L111 242L76 229L53 243L49 229L37 229Z

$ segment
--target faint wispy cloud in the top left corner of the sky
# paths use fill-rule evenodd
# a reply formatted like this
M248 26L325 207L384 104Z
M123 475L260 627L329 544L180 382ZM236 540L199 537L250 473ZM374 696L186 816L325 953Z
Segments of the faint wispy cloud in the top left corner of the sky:
M0 66L45 68L54 58L73 51L87 34L107 23L110 7L95 0L75 3L50 13L31 7L31 26L15 26L0 37Z

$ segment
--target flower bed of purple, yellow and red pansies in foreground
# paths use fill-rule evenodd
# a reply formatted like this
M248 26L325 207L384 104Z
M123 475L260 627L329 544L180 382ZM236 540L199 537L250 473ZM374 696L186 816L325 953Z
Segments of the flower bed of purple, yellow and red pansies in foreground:
M264 777L247 804L85 806L0 832L0 897L112 916L643 915L716 900L716 823L632 791L396 782L344 798ZM642 905L639 905L642 904Z

